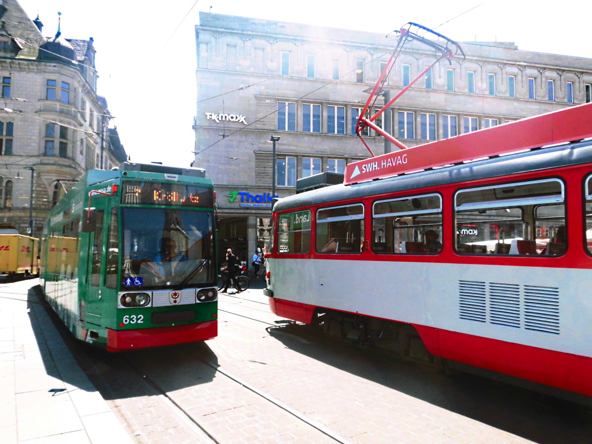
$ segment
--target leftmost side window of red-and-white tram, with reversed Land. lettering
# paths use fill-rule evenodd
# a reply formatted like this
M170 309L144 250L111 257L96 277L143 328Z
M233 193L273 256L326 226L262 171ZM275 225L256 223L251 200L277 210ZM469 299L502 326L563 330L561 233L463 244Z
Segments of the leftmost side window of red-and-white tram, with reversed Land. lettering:
M309 210L281 214L278 217L278 252L310 252L311 215Z

